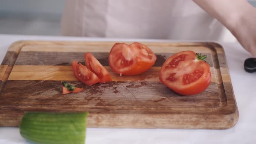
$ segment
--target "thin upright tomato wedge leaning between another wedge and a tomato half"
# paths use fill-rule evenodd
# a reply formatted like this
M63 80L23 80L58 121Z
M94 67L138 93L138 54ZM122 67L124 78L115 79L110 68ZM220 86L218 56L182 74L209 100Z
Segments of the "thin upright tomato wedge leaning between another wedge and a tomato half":
M92 55L91 52L85 53L85 64L87 69L90 69L98 76L101 83L110 82L111 76L108 70Z

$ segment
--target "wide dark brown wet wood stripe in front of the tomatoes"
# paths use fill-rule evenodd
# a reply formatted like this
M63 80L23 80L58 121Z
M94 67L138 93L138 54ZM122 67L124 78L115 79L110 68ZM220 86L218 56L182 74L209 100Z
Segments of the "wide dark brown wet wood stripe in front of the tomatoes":
M160 82L109 82L93 86L83 86L80 82L69 83L77 87L83 87L84 91L77 94L69 94L67 96L69 101L65 101L65 105L116 105L117 107L121 105L133 108L148 105L151 108L164 106L163 109L166 109L166 111L169 111L169 108L184 107L184 105L188 107L193 106L194 108L205 108L205 105L209 108L220 106L219 95L215 91L217 84L215 83L210 84L208 91L193 96L176 95ZM33 88L26 90L26 92L23 91L23 89L27 89L31 85L33 85ZM15 95L16 93L23 93L23 95L27 96L22 98ZM152 95L148 95L148 93ZM29 105L63 105L62 98L62 85L60 85L60 81L8 80L5 88L3 88L0 101L6 105L17 104L20 107L30 107ZM15 99L19 100L16 101ZM31 101L27 101L27 99ZM45 103L40 104L42 100ZM191 103L190 101L197 101L197 103ZM173 103L176 105L173 105ZM114 110L115 108L112 109L112 111Z

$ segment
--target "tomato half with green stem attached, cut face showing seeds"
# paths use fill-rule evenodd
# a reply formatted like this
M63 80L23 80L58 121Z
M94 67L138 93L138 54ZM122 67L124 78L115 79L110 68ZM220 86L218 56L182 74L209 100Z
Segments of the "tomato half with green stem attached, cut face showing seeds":
M181 95L203 92L211 81L210 66L205 58L193 51L176 53L162 65L160 81Z

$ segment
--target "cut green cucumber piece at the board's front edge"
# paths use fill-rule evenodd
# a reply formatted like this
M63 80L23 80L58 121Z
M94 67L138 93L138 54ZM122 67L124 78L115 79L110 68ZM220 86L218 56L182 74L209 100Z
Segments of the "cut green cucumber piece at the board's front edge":
M26 112L20 135L36 144L85 144L88 114Z

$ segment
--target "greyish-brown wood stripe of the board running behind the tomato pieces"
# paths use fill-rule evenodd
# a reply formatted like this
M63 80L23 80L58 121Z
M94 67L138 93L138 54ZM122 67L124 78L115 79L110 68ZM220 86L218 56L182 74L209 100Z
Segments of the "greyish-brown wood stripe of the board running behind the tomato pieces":
M86 51L89 52L89 51ZM108 52L92 52L93 56L103 65L108 66ZM162 66L165 60L175 53L156 53L157 60L154 66ZM213 65L210 53L202 53ZM36 57L35 57L36 56ZM53 60L54 59L54 60ZM71 65L73 60L85 65L84 52L20 52L16 65ZM225 67L225 65L221 65Z

